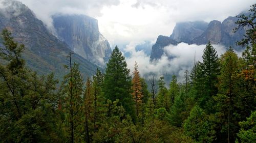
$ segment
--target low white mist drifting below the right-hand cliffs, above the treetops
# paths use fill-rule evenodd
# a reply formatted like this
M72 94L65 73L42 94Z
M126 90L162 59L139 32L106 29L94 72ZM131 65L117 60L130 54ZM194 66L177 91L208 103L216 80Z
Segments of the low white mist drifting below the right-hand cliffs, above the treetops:
M177 46L169 45L164 47L165 54L161 59L150 63L150 56L146 55L143 51L135 51L134 45L127 46L126 49L132 52L130 58L126 58L127 67L134 70L135 61L138 64L138 70L142 77L146 77L150 74L154 74L156 77L160 77L166 74L176 75L179 82L184 79L184 72L189 72L194 66L194 55L196 52L196 61L202 61L203 50L206 45L188 45L186 43L179 43ZM226 47L222 45L213 45L218 55L220 56L226 51ZM169 59L168 56L174 56L175 58Z

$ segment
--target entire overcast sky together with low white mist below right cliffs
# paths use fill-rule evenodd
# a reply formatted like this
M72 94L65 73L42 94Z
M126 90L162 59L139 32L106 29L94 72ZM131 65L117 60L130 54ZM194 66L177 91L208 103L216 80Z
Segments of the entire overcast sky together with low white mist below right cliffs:
M255 0L19 0L36 16L51 27L51 15L55 13L86 14L98 19L99 31L108 39L112 49L115 45L130 57L126 57L128 68L133 71L135 61L140 74L176 74L183 81L184 71L190 71L196 60L202 60L205 45L180 43L164 48L159 61L150 63L150 56L135 47L144 41L155 43L159 35L172 34L176 22L211 20L223 21L248 11ZM219 55L225 52L222 45L214 45ZM151 47L148 47L151 49ZM167 56L176 58L169 60ZM241 55L241 53L239 53Z

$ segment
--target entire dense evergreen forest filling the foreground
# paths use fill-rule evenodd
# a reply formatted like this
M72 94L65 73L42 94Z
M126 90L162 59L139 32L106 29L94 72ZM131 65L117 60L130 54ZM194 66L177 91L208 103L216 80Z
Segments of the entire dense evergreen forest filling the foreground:
M5 29L0 142L256 142L255 7L234 30L248 26L238 42L242 56L232 47L218 56L208 43L182 83L173 75L147 85L137 63L130 75L116 46L105 73L87 79L70 54L70 72L58 84L54 74L26 68L24 45Z

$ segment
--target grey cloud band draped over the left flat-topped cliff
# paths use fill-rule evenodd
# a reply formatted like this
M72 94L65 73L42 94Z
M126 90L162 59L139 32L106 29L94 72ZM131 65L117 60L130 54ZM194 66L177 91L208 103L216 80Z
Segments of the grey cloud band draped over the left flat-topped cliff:
M3 1L3 0L0 0ZM28 6L48 28L52 28L51 16L56 13L102 15L101 9L118 5L119 0L18 0Z

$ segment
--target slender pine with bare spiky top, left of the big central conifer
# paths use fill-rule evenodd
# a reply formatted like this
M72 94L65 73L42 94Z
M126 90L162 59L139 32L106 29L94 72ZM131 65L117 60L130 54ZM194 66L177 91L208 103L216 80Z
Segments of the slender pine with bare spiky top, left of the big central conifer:
M64 98L63 109L65 113L66 133L70 142L81 141L80 123L82 122L82 88L83 79L78 65L71 62L70 73L64 76L61 85L61 95Z

